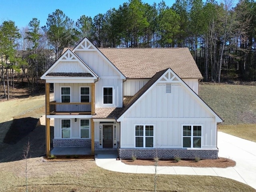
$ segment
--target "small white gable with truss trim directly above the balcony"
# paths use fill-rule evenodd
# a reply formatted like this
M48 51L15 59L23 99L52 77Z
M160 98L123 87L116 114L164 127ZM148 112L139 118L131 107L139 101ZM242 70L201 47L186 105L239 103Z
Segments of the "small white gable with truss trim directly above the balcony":
M41 76L41 79L61 80L61 79L98 79L98 76L70 49Z

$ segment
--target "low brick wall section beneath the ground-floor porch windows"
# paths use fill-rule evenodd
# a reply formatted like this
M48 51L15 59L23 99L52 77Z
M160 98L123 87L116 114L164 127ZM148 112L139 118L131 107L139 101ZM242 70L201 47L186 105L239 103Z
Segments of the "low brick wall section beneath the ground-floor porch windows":
M53 147L91 147L91 139L53 139Z

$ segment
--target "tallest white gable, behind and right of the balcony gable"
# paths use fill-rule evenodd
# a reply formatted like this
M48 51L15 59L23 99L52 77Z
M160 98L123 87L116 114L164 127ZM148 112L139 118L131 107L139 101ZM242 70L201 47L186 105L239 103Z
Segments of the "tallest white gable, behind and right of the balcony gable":
M98 48L96 48L87 38L84 38L74 49L79 58L81 58L94 72L101 78L119 76L120 79L126 77L106 58Z

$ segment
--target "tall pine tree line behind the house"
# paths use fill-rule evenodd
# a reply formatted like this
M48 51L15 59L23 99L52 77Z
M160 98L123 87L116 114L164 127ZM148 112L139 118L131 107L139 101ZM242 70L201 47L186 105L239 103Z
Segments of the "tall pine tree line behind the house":
M256 79L256 2L240 0L176 0L148 4L129 0L118 8L73 21L57 9L46 25L32 18L18 29L14 21L0 26L1 84L14 86L14 76L38 91L40 76L60 57L87 37L97 47L188 47L204 81ZM21 70L21 71L20 71ZM8 91L7 91L8 92Z

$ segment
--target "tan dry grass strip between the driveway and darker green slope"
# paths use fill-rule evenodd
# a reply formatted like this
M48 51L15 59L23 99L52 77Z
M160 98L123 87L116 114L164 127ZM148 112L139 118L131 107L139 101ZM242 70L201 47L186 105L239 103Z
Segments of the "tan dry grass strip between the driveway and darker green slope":
M218 131L256 142L256 124L220 125Z

